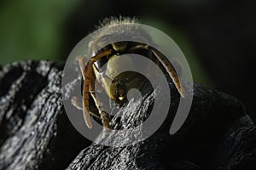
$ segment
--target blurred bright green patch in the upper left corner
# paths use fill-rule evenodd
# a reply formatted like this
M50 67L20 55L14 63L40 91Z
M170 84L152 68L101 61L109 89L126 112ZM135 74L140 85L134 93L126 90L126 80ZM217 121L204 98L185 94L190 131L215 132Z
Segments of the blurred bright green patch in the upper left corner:
M58 59L61 26L78 2L3 2L0 8L0 65L24 59Z

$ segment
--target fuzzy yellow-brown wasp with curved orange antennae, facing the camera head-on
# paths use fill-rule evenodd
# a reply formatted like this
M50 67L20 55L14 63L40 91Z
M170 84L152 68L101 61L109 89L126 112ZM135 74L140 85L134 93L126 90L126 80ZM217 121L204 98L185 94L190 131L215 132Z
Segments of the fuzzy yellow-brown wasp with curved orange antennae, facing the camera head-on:
M78 109L83 110L84 121L87 127L92 128L90 115L102 120L103 127L109 127L109 116L104 111L101 102L96 98L96 81L99 82L102 88L108 94L109 99L117 106L124 105L127 100L127 92L129 87L137 84L137 87L143 86L141 77L137 77L131 73L123 74L122 77L111 79L113 72L117 71L119 67L124 65L132 65L132 60L127 60L125 63L116 63L115 59L123 54L142 54L148 59L152 59L154 63L160 65L172 78L178 93L181 97L185 98L186 92L177 77L176 71L173 69L172 64L166 57L160 53L156 48L142 43L139 40L152 42L152 37L137 25L137 20L130 18L119 19L106 19L102 22L101 27L108 26L108 31L98 33L93 40L89 43L89 52L91 56L80 57L79 68L83 75L83 89L82 89L82 102L76 97L72 99L72 104ZM106 45L109 40L118 40L119 37L125 36L136 37L137 41L117 41ZM102 65L107 65L107 69L102 70ZM92 97L96 104L97 112L90 111L89 97Z

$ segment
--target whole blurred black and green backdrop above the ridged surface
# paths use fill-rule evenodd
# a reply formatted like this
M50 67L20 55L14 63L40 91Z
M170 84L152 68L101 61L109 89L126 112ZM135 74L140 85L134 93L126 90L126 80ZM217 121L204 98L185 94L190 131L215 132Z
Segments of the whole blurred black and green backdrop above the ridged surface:
M195 82L236 96L256 122L253 0L3 0L0 5L1 65L23 59L65 60L100 20L136 16L177 42Z

